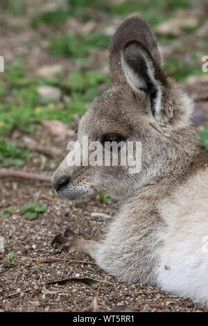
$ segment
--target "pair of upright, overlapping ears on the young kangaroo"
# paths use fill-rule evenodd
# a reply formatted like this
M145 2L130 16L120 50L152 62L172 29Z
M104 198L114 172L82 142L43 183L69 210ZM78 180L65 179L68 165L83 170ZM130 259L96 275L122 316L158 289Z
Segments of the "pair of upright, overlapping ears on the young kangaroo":
M166 76L160 67L155 35L144 19L132 17L119 27L110 44L111 82L126 81L135 93L150 96L155 119L160 119L162 87Z

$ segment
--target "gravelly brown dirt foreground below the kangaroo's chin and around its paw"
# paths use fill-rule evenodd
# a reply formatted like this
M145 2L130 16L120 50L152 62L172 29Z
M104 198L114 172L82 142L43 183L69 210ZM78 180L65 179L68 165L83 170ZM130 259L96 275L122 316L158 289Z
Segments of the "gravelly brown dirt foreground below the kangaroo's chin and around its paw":
M11 197L11 189L16 196ZM63 200L51 202L40 199L42 194L53 196L51 187L39 182L15 182L5 180L1 193L6 205L20 206L29 200L40 200L47 206L46 212L35 221L27 221L17 212L12 218L3 219L1 232L6 240L8 252L17 252L17 262L12 268L0 267L0 309L1 311L85 311L96 295L96 289L80 282L63 285L47 282L66 277L92 277L101 283L98 304L101 311L110 311L117 304L127 304L132 311L204 311L192 300L177 298L159 291L146 294L148 287L128 285L101 271L95 264L87 263L91 258L78 253L60 252L51 246L55 234L64 232L70 225L74 232L82 232L86 239L97 239L105 231L115 213L114 205L89 200L76 206ZM92 217L92 212L96 212ZM108 214L109 218L99 215ZM24 259L31 263L26 264ZM39 259L53 257L51 262ZM61 260L65 259L65 260ZM71 262L71 260L79 262ZM69 261L67 261L69 260ZM81 262L83 261L83 262ZM141 291L141 294L135 292ZM142 294L144 292L144 294ZM16 293L16 294L14 294ZM13 294L13 295L12 295Z

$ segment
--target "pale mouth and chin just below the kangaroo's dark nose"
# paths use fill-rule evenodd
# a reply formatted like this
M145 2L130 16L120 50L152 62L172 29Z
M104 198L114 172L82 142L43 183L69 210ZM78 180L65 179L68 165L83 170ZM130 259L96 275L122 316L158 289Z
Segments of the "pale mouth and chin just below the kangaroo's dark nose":
M55 190L55 192L60 198L68 200L84 199L94 194L94 190L87 185L69 185L68 187L63 187L59 191Z

